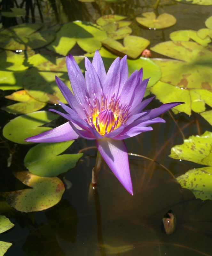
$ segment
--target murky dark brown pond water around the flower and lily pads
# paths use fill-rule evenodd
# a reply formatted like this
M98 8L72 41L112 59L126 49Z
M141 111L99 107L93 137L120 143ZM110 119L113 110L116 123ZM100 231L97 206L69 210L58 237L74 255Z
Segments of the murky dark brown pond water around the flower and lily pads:
M60 2L56 3L59 6ZM173 31L197 31L205 28L205 20L212 15L211 5L161 0L155 9L154 4L153 1L131 0L86 4L75 0L63 1L58 19L60 23L73 20L95 23L97 18L111 12L127 15L127 20L132 21L131 35L148 39L150 49L158 43L169 41L169 34ZM141 17L142 12L155 12L157 16L163 12L169 13L177 19L177 23L163 29L145 28L135 20L137 16ZM40 23L39 13L35 13L36 15L35 21ZM56 18L53 11L45 12L43 7L43 19L54 22ZM21 24L20 18L17 20ZM75 56L85 52L78 45L70 50ZM49 58L62 57L45 47L35 50L35 53L50 54ZM162 53L151 53L152 58L164 58ZM0 91L1 108L17 103L4 98L13 92L15 91ZM162 90L162 93L166 94L166 90ZM151 96L153 95L148 95L147 98ZM176 101L179 101L178 98ZM160 105L161 102L154 99L146 109ZM50 108L55 108L55 105L49 103L42 110ZM56 108L62 110L60 106ZM206 110L210 109L207 105ZM0 192L26 189L28 187L16 179L12 172L26 171L24 157L35 145L23 145L4 138L3 127L17 115L2 109L0 115ZM205 131L212 132L212 127L199 113L193 111L191 115L183 112L175 115L170 110L161 117L166 121L165 124L153 124L153 131L143 132L125 140L129 153L133 196L122 187L105 162L99 172L97 188L90 188L97 148L94 140L80 138L65 151L65 154L82 152L83 156L75 168L58 176L66 187L58 204L44 211L25 213L14 209L2 197L0 213L15 224L12 229L0 234L1 241L12 243L5 256L212 255L212 201L196 198L192 191L181 188L172 176L177 178L188 170L204 165L169 157L171 148L183 144L184 138L201 135ZM65 119L59 117L48 125L57 127L63 123ZM7 167L10 156L12 162ZM161 227L162 219L170 209L177 224L175 232L167 236Z

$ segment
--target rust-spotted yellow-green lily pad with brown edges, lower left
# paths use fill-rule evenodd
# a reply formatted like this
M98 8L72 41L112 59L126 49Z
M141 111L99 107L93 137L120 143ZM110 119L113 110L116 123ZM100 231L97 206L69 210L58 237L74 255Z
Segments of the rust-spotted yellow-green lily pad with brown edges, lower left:
M1 196L20 212L48 209L60 201L65 191L63 182L57 177L40 177L30 172L14 172L13 174L31 188L1 193Z

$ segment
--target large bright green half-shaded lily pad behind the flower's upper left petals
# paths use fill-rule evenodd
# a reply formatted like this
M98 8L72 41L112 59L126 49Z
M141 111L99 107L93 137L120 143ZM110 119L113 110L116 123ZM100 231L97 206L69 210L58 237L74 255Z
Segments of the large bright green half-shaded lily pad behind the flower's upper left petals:
M106 38L107 34L103 28L77 20L63 24L56 39L47 48L66 56L77 43L84 51L95 52L102 46L100 41Z

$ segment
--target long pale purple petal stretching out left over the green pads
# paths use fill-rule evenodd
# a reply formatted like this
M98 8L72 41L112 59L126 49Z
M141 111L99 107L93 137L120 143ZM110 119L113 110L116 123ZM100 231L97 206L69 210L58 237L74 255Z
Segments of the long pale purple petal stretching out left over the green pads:
M61 142L75 140L80 136L72 129L69 122L62 124L50 131L25 139L28 142Z

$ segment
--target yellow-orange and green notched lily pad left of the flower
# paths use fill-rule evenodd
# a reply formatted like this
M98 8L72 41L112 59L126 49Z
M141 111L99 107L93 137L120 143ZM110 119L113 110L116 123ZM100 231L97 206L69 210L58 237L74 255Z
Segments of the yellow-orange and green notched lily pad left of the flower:
M12 114L27 114L46 106L46 103L33 99L25 90L13 92L5 98L20 101L20 103L1 108Z

